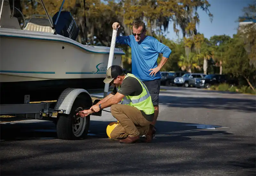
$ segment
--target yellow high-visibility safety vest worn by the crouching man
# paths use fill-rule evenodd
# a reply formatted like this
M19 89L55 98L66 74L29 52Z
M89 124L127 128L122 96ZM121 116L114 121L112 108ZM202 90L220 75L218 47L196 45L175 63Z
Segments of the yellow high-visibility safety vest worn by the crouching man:
M152 99L148 92L147 87L139 78L137 78L133 74L127 73L125 78L127 78L129 76L134 77L139 81L139 83L142 87L142 92L140 95L137 95L137 96L130 96L130 95L125 96L122 99L121 104L130 105L132 107L135 107L135 108L143 111L147 115L153 114L155 112L155 108L153 106ZM118 87L118 89L120 89L120 87Z

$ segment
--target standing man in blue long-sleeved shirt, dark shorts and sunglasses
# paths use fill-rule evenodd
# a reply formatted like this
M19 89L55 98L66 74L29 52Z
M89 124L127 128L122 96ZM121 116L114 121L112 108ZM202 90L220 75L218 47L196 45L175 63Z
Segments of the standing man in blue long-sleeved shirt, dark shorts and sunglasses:
M118 22L114 22L113 29L120 28ZM140 78L147 86L155 107L155 115L152 125L155 126L158 116L158 100L160 92L161 74L159 70L164 66L171 54L171 49L160 43L156 38L146 35L146 26L143 21L134 21L132 23L132 35L116 37L116 43L126 44L132 50L132 74ZM163 57L157 65L158 54Z

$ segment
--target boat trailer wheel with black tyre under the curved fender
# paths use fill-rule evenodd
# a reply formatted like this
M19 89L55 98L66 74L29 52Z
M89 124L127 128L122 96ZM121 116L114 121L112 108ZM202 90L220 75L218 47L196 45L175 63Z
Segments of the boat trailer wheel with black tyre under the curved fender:
M76 116L76 111L90 108L92 102L80 94L73 103L70 114L60 114L57 122L57 136L63 140L78 140L86 138L90 126L90 116ZM86 99L87 98L87 99Z

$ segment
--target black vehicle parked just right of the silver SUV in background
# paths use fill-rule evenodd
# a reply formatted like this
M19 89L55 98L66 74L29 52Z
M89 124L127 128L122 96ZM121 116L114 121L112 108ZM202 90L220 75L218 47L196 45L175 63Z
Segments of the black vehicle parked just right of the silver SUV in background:
M205 76L203 79L196 79L195 86L197 88L209 88L211 85L227 83L232 85L237 85L238 81L236 79L229 79L227 75L210 74Z

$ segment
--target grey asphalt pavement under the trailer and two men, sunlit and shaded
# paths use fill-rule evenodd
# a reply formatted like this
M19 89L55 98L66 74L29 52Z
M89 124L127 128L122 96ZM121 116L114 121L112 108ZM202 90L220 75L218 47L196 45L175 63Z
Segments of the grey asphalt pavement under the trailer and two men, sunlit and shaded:
M161 88L151 143L108 139L104 111L85 140L57 139L49 121L2 122L0 175L255 175L255 96Z

